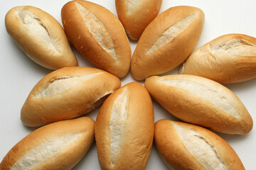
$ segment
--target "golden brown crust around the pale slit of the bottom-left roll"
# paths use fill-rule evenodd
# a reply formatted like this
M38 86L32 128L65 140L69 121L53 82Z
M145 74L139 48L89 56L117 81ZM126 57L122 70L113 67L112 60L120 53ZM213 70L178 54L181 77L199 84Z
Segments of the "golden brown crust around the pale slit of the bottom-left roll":
M95 139L94 136L95 122L91 118L82 117L74 120L63 120L58 123L51 123L43 126L34 132L31 132L23 140L18 142L2 160L0 169L10 169L24 155L32 152L33 149L41 147L49 141L54 142L56 138L63 135L78 135L78 137L60 151L40 162L33 169L72 169L80 159L85 155L90 145ZM50 147L50 146L49 146ZM48 154L48 152L43 152ZM35 155L38 159L39 155ZM35 160L33 160L35 161ZM32 161L32 162L33 162ZM27 162L29 162L27 160ZM30 164L30 163L28 163ZM26 166L24 164L23 166ZM25 169L25 168L24 168Z

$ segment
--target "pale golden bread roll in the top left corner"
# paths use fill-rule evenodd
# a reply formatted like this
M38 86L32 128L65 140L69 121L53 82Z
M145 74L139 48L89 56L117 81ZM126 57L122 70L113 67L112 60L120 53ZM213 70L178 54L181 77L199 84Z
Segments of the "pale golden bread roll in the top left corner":
M65 31L49 13L33 6L17 6L6 14L5 24L18 47L41 66L60 69L78 65Z

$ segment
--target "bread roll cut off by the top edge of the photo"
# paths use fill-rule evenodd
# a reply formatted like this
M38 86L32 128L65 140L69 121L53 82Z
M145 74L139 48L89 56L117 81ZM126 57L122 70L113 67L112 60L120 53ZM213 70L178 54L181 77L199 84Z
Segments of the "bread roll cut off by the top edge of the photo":
M116 0L117 15L128 37L138 40L146 26L158 15L162 0Z

